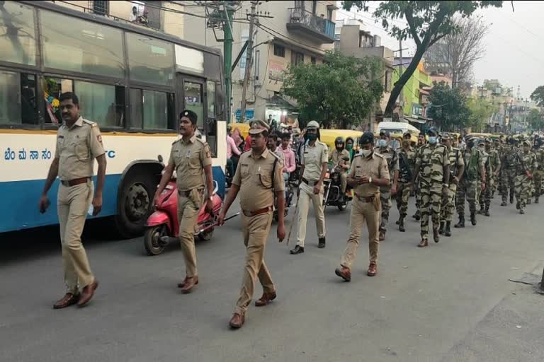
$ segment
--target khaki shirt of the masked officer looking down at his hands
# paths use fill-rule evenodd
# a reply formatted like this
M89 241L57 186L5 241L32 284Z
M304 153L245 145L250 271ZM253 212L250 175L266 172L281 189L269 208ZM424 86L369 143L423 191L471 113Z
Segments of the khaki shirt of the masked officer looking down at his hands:
M387 167L387 160L378 154L373 152L372 156L364 157L356 155L353 157L353 163L349 169L348 177L355 179L356 177L371 177L374 179L382 178L390 181L389 168ZM361 197L372 196L379 191L380 187L371 183L363 185L357 185L353 191Z

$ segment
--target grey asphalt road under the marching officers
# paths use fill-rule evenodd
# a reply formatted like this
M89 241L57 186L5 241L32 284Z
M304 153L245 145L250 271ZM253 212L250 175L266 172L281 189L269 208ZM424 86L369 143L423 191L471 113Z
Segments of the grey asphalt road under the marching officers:
M0 235L0 361L543 361L544 296L508 280L542 270L543 213L533 204L520 216L496 197L491 218L420 249L419 223L399 233L394 210L378 276L365 275L363 241L344 283L334 268L349 209L327 209L323 250L313 217L303 255L289 255L271 232L266 262L278 298L251 305L237 331L228 322L244 265L239 221L198 243L200 284L188 295L176 288L179 245L148 257L141 238L109 240L106 224L89 226L101 284L82 309L51 308L64 291L56 228Z

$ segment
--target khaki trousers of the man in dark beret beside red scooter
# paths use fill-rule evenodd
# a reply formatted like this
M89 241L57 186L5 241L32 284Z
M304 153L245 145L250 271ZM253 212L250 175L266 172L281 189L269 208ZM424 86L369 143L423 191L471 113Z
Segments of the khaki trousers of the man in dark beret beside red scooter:
M202 206L203 192L192 189L189 196L178 197L179 242L185 259L185 273L188 278L198 275L196 269L195 236L198 211Z

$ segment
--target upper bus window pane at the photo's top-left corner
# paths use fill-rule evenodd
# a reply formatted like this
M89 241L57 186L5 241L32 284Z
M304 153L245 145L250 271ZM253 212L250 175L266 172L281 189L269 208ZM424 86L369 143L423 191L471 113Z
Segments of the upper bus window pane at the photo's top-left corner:
M0 60L36 65L33 9L18 1L2 1L1 10Z

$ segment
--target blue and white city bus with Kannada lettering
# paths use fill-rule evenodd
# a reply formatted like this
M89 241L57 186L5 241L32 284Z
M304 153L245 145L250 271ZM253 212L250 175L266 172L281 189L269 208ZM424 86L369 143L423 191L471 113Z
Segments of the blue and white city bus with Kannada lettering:
M101 128L108 167L100 216L115 216L122 235L143 231L162 170L157 157L167 162L185 108L198 114L223 196L226 123L216 49L47 1L1 1L0 33L0 233L58 223L56 202L39 214L38 199L66 91ZM58 180L50 197L57 187Z

